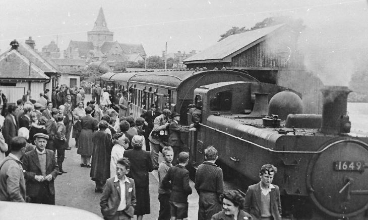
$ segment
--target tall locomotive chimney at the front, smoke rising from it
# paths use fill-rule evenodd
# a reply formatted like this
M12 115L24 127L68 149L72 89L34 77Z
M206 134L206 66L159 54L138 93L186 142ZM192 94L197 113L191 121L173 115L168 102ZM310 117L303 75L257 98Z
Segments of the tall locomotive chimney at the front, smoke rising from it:
M350 132L349 117L346 115L347 95L351 90L346 86L325 86L322 89L323 109L321 132L338 135Z

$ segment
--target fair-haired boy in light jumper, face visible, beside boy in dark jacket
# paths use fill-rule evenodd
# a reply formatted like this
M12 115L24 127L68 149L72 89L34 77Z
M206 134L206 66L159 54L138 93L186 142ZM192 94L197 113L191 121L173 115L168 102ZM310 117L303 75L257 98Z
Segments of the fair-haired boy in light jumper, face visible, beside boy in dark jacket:
M174 157L174 151L172 147L164 147L162 149L162 155L164 161L158 166L158 200L160 201L160 211L158 214L158 220L170 219L170 189L165 189L162 186L162 180L165 177L167 171L172 167L172 158Z

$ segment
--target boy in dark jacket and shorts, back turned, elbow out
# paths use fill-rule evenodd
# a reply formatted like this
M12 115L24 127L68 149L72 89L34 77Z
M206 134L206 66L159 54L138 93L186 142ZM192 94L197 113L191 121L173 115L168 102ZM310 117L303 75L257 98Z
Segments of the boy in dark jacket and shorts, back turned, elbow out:
M180 152L176 166L170 167L162 180L164 188L172 189L169 203L171 220L181 220L188 217L188 195L192 194L189 185L189 171L186 169L189 154Z

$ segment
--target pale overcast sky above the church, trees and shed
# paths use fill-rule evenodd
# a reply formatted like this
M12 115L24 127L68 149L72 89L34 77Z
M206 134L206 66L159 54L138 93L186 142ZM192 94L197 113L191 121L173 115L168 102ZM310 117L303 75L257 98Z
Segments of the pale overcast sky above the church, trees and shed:
M87 41L100 7L114 40L142 43L148 56L161 56L165 42L168 53L198 52L215 44L233 26L250 28L272 16L303 19L307 28L300 33L299 44L309 55L305 63L311 70L327 71L326 63L334 66L344 61L345 69L328 71L352 72L354 49L368 45L366 0L0 0L0 5L3 52L13 39L24 42L28 36L38 50L52 40L60 51L71 40ZM341 55L347 49L346 60L346 55L335 57L334 53ZM326 61L329 57L334 60ZM318 63L321 59L322 64Z

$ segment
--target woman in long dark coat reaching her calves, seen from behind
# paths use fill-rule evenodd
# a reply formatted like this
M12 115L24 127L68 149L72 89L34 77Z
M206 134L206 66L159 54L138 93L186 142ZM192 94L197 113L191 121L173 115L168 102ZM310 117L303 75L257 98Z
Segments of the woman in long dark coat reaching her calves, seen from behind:
M92 136L92 166L90 177L96 183L95 192L102 192L106 179L110 178L110 136L106 133L106 121L98 123L99 131Z

